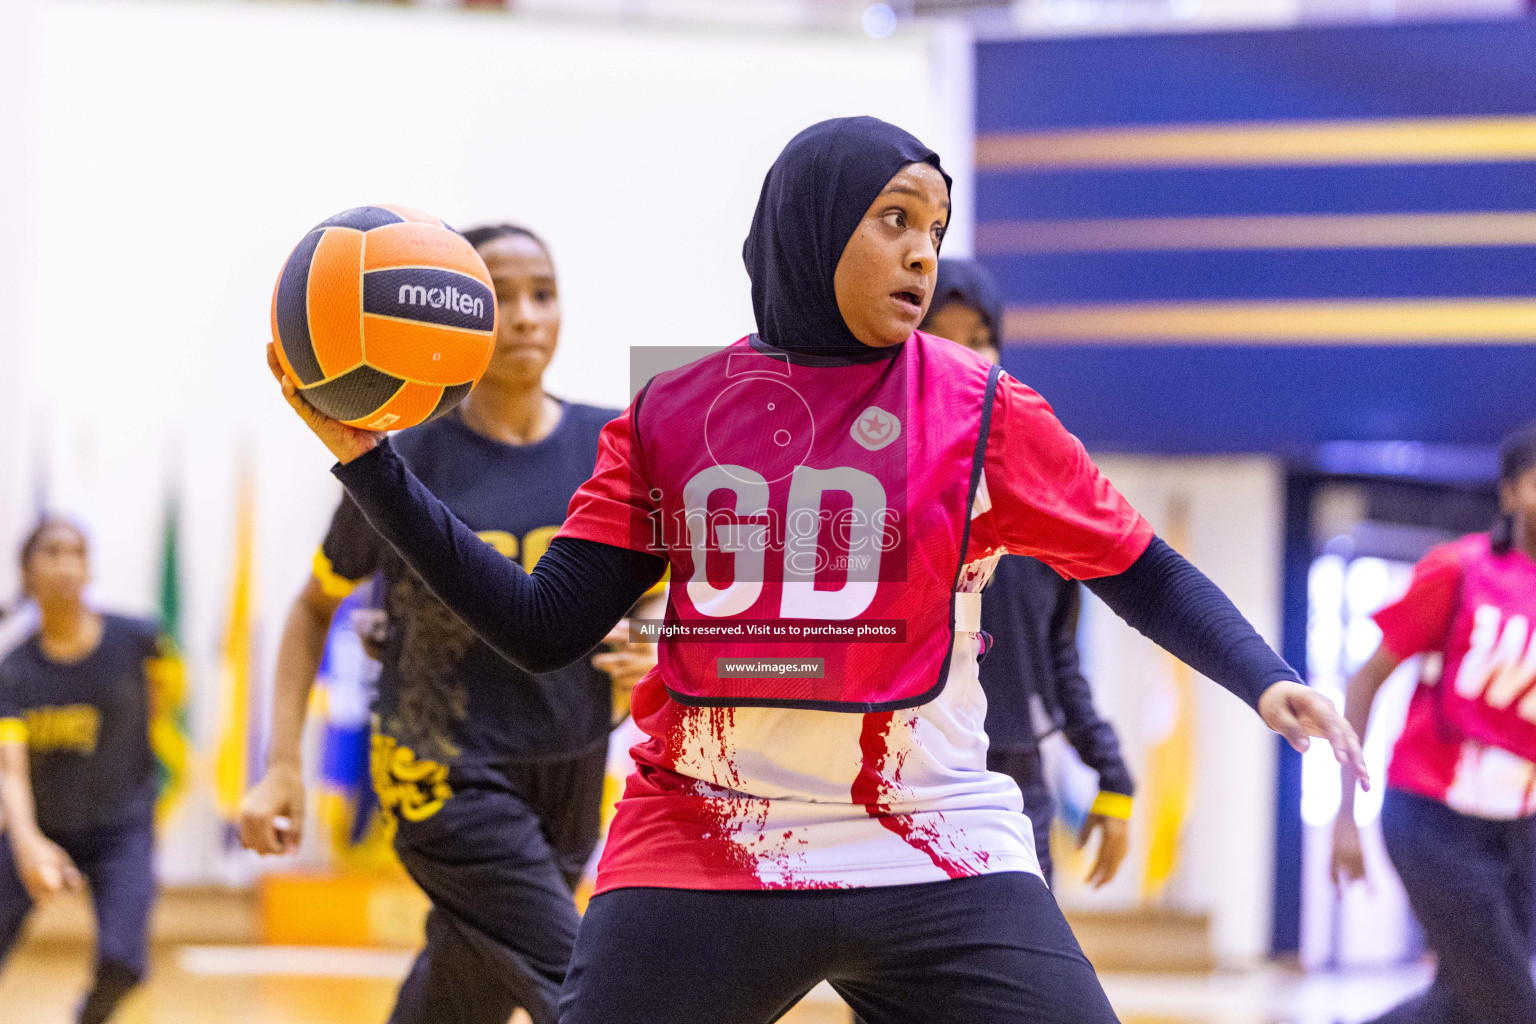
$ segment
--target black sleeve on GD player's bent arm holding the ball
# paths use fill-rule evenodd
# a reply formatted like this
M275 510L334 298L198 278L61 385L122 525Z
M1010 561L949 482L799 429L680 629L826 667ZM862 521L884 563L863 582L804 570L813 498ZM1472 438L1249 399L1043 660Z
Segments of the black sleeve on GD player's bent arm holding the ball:
M588 654L667 567L656 554L556 537L530 574L459 522L389 444L332 471L427 588L528 672Z

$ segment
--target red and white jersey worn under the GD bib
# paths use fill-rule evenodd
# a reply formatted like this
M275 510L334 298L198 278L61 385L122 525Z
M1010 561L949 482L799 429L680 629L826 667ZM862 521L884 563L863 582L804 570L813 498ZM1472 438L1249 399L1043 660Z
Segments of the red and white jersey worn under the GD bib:
M571 499L562 536L648 547L654 507L645 496L653 488L636 479L633 413L604 430L596 471ZM1124 571L1150 540L1147 522L1044 399L1003 375L957 591L978 602L1006 553L1092 579ZM664 669L653 669L634 691L631 711L647 738L631 751L636 769L604 847L598 890L817 889L1038 874L1018 788L986 771L978 628L978 614L957 620L946 685L934 700L899 711L690 706L668 694Z

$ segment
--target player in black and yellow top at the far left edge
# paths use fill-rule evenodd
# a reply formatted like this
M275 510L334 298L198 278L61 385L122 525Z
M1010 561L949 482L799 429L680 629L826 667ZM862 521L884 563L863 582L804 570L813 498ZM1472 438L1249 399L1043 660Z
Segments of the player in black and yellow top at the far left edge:
M100 1024L146 970L155 901L158 629L94 611L84 534L38 525L22 547L22 585L41 625L0 662L0 960L35 900L91 883L95 984L81 1024Z

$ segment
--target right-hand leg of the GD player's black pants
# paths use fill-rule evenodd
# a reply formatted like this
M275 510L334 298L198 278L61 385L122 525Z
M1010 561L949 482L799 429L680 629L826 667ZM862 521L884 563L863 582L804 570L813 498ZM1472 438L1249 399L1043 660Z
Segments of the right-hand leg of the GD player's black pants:
M848 894L831 983L868 1024L1115 1024L1044 881L1000 872Z

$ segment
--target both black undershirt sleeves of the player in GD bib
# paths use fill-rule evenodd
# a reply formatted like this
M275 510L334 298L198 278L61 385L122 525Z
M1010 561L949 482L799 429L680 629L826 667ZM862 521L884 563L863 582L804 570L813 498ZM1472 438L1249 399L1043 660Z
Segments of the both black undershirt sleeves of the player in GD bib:
M332 471L432 593L530 672L590 652L667 568L657 554L554 537L530 574L459 522L389 442ZM1127 623L1253 708L1270 683L1296 679L1227 596L1160 539L1124 573L1087 586Z

